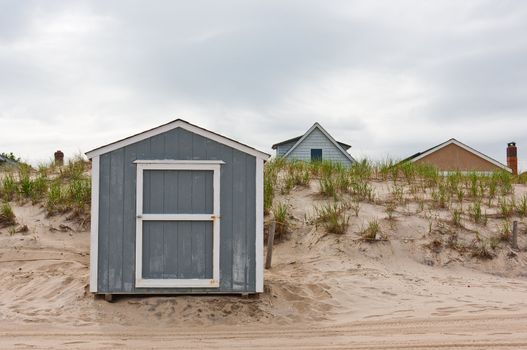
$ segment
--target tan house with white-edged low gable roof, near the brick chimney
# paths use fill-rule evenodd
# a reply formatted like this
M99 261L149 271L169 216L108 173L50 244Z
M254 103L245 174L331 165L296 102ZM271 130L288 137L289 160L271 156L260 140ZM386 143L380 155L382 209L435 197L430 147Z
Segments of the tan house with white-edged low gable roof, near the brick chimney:
M499 170L512 172L506 165L476 151L456 139L450 139L426 151L416 153L403 160L403 162L406 161L418 164L431 164L443 172L475 171L479 173L490 173Z

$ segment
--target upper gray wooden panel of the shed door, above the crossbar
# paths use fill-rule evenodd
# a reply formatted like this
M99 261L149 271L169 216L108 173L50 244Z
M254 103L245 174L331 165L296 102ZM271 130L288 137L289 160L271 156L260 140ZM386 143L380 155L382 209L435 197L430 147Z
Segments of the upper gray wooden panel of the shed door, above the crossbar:
M213 172L145 170L144 214L212 214Z

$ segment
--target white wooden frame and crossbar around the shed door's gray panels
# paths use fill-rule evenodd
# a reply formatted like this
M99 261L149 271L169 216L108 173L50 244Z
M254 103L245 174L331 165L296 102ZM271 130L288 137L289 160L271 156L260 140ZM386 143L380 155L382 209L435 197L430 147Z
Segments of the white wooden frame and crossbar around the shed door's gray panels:
M221 160L136 160L135 286L138 288L218 288L220 285L220 170ZM212 214L144 214L143 172L145 170L213 171ZM143 221L212 221L212 279L143 278Z

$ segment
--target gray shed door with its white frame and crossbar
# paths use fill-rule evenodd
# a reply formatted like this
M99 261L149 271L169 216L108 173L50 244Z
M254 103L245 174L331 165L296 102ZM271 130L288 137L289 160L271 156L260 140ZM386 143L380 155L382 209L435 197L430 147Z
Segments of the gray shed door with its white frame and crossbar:
M223 162L135 163L136 287L218 287Z

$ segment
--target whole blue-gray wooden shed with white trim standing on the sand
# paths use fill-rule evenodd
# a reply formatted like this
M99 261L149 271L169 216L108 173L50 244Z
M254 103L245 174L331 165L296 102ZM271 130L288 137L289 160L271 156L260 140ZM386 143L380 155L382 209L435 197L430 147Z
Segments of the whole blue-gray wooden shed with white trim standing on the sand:
M86 153L90 291L263 291L269 155L178 119Z

